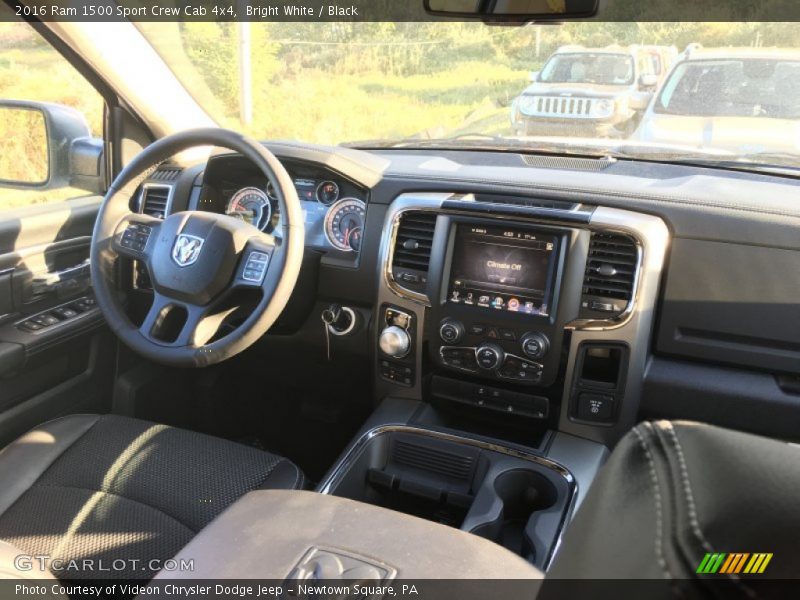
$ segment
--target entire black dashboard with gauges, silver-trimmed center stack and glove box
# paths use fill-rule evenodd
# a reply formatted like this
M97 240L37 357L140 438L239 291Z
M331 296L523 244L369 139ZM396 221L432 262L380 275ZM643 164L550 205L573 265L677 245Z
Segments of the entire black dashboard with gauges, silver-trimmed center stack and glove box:
M321 256L304 293L359 315L334 346L368 357L376 398L607 444L642 411L767 432L796 420L785 412L800 375L796 180L516 153L268 147ZM243 159L216 156L179 179L173 210L278 231L269 185ZM320 315L302 319L296 335L319 344ZM704 414L694 400L704 394L751 416Z

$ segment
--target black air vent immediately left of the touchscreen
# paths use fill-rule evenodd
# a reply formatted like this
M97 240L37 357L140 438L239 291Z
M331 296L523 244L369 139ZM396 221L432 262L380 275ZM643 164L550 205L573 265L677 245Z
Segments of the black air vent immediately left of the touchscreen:
M392 276L404 288L425 292L435 229L435 213L409 211L400 217L392 253Z

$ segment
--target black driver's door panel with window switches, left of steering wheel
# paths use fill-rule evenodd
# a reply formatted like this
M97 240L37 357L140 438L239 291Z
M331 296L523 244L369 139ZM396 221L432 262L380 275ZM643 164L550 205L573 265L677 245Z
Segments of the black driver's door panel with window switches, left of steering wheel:
M0 213L0 445L43 420L110 402L116 341L90 303L86 263L101 201ZM65 310L84 298L82 310ZM68 316L26 328L46 315Z

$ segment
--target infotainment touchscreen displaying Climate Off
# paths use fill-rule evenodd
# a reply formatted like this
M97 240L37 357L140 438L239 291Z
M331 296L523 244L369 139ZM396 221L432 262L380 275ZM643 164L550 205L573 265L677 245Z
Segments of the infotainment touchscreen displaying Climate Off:
M550 314L557 236L482 225L456 227L448 302Z

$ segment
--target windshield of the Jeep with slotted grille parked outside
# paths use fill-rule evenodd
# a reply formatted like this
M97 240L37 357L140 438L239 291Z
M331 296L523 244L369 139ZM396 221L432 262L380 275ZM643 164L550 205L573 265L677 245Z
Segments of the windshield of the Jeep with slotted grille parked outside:
M560 54L547 61L543 83L633 83L633 59L623 54Z

